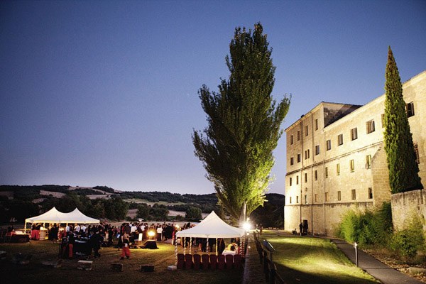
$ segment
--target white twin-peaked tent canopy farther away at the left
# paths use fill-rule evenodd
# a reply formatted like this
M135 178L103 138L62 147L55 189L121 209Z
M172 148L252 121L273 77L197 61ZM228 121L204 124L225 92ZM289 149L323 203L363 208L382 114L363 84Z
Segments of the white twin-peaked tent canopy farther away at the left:
M62 213L55 207L48 212L35 217L25 219L26 223L77 223L77 224L99 224L98 219L87 217L79 209L75 208L70 213Z

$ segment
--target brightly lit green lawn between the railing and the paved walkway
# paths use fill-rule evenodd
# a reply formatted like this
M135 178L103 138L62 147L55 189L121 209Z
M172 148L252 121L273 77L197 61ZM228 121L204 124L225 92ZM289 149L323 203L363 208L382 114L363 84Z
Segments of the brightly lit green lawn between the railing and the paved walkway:
M273 261L278 273L288 283L379 283L357 268L328 239L308 236L262 234L275 249Z

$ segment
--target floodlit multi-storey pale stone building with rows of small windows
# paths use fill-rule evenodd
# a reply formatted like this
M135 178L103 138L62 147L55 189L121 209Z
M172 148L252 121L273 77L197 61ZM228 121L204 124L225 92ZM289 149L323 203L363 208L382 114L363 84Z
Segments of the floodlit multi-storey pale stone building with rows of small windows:
M422 184L426 185L426 71L403 84ZM285 230L306 220L333 235L349 208L391 200L383 148L385 95L364 106L322 102L285 129Z

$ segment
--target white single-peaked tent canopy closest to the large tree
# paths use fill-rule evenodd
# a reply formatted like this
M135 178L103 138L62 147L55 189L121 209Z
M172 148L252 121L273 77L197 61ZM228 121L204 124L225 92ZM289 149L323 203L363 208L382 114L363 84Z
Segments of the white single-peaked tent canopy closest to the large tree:
M239 238L244 236L244 229L226 224L214 211L190 229L178 231L176 236L192 238Z

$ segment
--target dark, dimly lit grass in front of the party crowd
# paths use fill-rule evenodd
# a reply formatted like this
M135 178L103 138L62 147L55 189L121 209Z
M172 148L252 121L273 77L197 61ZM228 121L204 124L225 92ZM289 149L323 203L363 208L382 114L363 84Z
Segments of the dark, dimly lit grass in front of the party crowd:
M0 283L193 283L193 284L219 284L241 283L242 271L195 271L178 270L168 271L167 267L175 264L175 246L157 243L159 249L132 249L131 258L121 261L124 263L123 271L111 271L110 263L120 261L121 251L112 247L102 248L101 258L93 261L92 271L77 269L77 261L84 258L64 259L62 267L45 267L41 261L55 259L58 256L58 244L50 241L31 241L26 244L0 244L0 251L7 252L6 261L0 262ZM33 257L27 265L11 263L11 256L15 253L31 253ZM143 264L154 264L154 272L141 272Z

